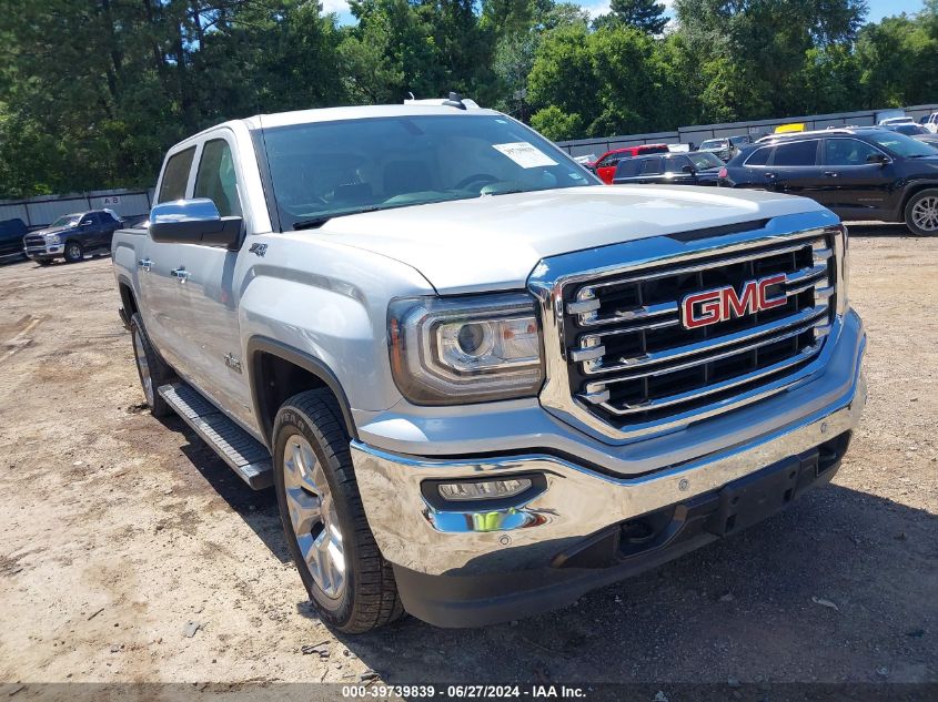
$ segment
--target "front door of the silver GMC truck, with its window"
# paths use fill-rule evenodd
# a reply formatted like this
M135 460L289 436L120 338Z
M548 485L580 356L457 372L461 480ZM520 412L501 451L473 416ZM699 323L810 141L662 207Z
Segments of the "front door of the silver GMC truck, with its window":
M199 146L193 169L192 197L211 200L222 217L244 216L239 183L236 149L230 132L222 130ZM245 226L250 222L245 220ZM242 244L242 250L245 246ZM221 408L250 426L251 394L241 358L238 303L241 296L239 263L242 251L206 244L185 244L175 267L185 307L186 365L190 381Z

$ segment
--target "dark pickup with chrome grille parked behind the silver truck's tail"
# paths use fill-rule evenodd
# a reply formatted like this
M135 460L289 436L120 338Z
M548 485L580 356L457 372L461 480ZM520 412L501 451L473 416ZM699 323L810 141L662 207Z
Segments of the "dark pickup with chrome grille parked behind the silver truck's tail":
M111 237L122 226L111 210L67 214L29 234L23 240L26 254L40 265L49 265L54 258L74 263L84 254L110 252Z

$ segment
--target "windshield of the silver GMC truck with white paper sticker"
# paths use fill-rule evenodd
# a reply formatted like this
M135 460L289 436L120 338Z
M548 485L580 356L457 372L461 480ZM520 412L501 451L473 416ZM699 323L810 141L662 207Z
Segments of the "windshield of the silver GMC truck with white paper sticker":
M284 230L355 212L595 185L536 132L497 115L415 115L264 130Z

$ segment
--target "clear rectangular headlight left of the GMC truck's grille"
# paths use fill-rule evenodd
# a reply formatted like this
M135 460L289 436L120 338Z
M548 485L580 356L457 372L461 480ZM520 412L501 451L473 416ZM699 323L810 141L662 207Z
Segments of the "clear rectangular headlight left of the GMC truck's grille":
M536 395L541 328L527 295L396 299L387 311L391 368L417 405Z

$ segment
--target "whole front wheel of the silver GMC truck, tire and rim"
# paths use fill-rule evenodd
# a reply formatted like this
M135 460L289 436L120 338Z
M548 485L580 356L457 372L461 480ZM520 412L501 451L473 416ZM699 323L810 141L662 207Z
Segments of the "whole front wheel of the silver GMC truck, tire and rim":
M335 398L300 393L276 414L274 487L286 545L320 619L364 633L403 615L369 528Z

